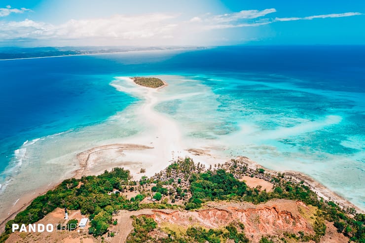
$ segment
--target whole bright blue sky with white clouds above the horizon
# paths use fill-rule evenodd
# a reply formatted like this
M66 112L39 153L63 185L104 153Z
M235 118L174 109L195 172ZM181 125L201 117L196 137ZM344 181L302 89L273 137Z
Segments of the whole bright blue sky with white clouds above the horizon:
M1 0L0 46L365 44L364 0Z

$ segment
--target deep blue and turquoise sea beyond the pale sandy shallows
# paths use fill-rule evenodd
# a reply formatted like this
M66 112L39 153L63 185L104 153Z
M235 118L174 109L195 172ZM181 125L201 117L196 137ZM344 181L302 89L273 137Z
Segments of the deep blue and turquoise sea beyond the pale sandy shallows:
M365 46L231 46L0 61L0 173L27 140L102 123L136 103L110 82L144 74L198 77L231 121L221 133L238 129L237 116L267 131L285 127L283 117L340 116L341 126L276 141L303 153L356 155L364 173Z

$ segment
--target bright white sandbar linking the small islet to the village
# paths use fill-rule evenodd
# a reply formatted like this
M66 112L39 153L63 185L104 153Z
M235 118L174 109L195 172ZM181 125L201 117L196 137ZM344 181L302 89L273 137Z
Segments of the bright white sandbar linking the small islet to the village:
M119 77L119 79L126 80L132 85L125 87L112 84L112 86L119 91L144 99L144 103L136 110L136 114L138 116L137 119L143 121L147 127L145 132L131 138L125 138L122 142L152 147L145 149L143 152L132 149L125 150L123 151L123 161L133 163L143 162L143 167L146 169L146 174L144 175L147 176L165 169L167 165L179 157L184 158L185 156L189 156L193 160L196 160L196 162L199 161L206 165L214 163L211 155L197 155L188 151L192 144L187 139L182 138L177 122L154 109L155 105L161 102L158 93L162 91L161 88L163 86L158 89L152 89L136 85L128 77ZM223 162L225 158L221 157L218 160L219 162ZM217 157L215 161L218 163ZM142 175L133 174L133 176L135 179L138 179Z

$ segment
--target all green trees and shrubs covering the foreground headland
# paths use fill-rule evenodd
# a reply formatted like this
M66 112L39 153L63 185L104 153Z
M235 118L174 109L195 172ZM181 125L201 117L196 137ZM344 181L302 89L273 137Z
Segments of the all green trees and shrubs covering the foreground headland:
M342 209L333 202L319 200L316 193L311 191L304 182L292 182L285 178L284 174L271 175L264 173L264 170L248 169L247 166L239 165L234 160L231 164L218 165L218 168L222 169L205 170L201 164L195 165L190 158L185 158L168 166L165 174L159 173L151 178L143 176L139 183L130 180L129 171L120 168L114 168L111 172L105 171L104 174L98 176L83 176L81 179L64 180L54 190L37 197L13 220L9 220L5 225L5 233L0 236L0 242L4 242L8 238L13 223L35 223L56 208L79 209L82 214L88 215L91 220L89 233L99 237L106 233L111 236L112 232L109 232L109 227L117 224L117 221L112 219L112 215L120 209L184 208L191 210L200 208L209 201L233 200L259 204L277 198L299 200L306 205L318 208L312 221L314 235L304 235L302 232L296 234L284 232L285 238L300 242L311 240L319 242L321 237L326 234L326 221L329 221L333 222L337 231L348 237L350 241L365 243L365 215L355 214L354 209ZM247 187L245 182L236 179L243 173L252 176L264 176L266 180L274 184L274 190L266 192ZM152 186L150 190L145 190L145 186L152 182L155 183L155 186ZM140 194L130 200L122 196L123 192L134 191L137 188L140 188L138 189ZM122 193L110 193L114 189ZM158 202L141 203L151 195ZM191 196L183 205L168 203L168 198L175 202L175 199L186 199L186 195ZM348 212L351 212L353 216L349 216ZM167 238L152 239L153 234L148 233L153 230L160 230L157 228L156 222L145 216L133 217L133 220L134 231L128 237L128 243L156 241L164 243L219 243L228 239L235 243L249 242L243 233L244 226L239 223L215 230L192 226L183 234L176 234L170 230ZM71 223L77 224L77 220L69 220L68 224ZM260 242L270 243L272 239L263 237Z

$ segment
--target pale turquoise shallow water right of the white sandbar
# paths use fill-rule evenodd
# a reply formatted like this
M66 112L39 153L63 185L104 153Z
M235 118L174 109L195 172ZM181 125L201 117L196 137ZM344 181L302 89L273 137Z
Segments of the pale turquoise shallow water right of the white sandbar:
M176 93L200 92L195 80L205 86L201 94L157 109L189 124L187 137L205 138L227 156L309 174L364 208L364 94L302 88L282 76L256 78L184 77L190 81L180 86L191 90Z

